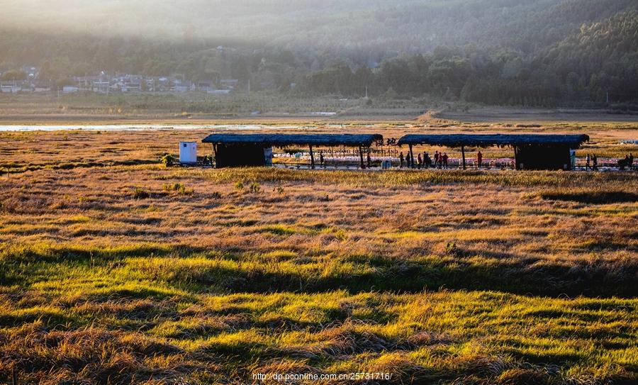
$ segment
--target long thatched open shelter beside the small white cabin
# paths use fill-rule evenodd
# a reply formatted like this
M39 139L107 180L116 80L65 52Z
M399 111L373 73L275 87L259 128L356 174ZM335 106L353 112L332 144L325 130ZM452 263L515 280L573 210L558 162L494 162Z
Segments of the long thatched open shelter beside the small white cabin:
M364 148L382 142L379 134L235 134L214 133L202 140L211 143L216 167L264 166L272 164L272 147L308 146L310 167L315 168L314 147L358 147L361 167L364 166Z

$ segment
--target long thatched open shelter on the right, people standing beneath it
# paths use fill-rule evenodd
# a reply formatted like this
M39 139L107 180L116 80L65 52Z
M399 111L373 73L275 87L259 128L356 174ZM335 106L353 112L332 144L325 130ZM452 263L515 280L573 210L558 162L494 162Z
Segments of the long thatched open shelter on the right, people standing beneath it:
M589 140L587 135L549 134L409 134L398 140L408 145L410 157L415 145L460 147L466 168L466 147L512 147L516 169L571 169L571 150Z

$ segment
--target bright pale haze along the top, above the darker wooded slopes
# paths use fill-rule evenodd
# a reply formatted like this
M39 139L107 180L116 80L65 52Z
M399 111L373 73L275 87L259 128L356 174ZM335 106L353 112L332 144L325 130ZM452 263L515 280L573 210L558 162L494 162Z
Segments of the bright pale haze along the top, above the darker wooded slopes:
M513 31L548 28L564 38L571 32L561 30L566 25L578 28L636 4L597 0L600 6L586 6L593 1L0 0L0 28L233 39L284 48L358 50L383 44L388 50L414 53L437 45L499 44L512 38ZM601 7L604 15L588 11Z

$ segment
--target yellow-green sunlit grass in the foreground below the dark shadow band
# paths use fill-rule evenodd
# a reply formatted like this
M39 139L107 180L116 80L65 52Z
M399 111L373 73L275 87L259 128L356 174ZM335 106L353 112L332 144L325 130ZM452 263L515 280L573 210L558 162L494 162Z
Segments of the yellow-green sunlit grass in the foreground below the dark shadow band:
M118 291L113 288L114 294ZM562 374L545 372L543 381L556 376L603 380L628 379L637 363L637 303L618 298L559 299L481 291L403 295L329 291L196 294L177 301L121 301L110 296L89 302L74 298L69 303L62 296L60 302L43 307L37 303L45 298L35 296L43 292L29 293L30 306L9 301L0 311L4 335L18 336L30 323L74 330L82 325L95 328L111 317L128 319L129 323L120 321L119 325L145 325L146 331L121 332L121 346L129 346L126 341L157 339L152 343L166 346L157 351L179 355L193 365L201 364L206 355L225 357L218 374L276 358L304 359L326 372L384 368L398 376L445 379L452 371L452 378L474 374L476 381L485 383L511 370L556 364L563 368ZM99 328L108 328L108 323ZM59 332L37 333L46 337ZM94 348L108 349L96 337L89 337ZM33 349L18 341L12 346ZM613 347L601 350L601 345ZM30 354L35 359L46 352ZM477 371L481 365L493 370Z

